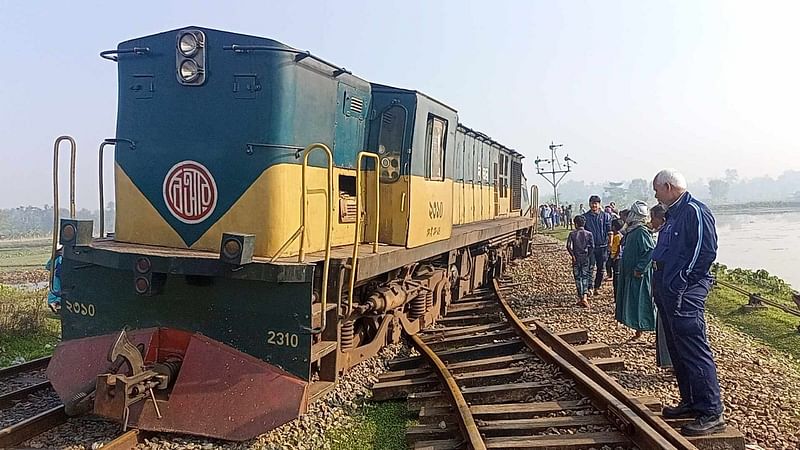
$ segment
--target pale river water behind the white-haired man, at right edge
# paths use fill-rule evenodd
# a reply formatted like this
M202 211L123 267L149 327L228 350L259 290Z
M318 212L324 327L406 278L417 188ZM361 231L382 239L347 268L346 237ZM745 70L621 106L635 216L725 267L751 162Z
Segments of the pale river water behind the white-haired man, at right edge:
M800 290L800 210L718 211L717 262L765 269Z

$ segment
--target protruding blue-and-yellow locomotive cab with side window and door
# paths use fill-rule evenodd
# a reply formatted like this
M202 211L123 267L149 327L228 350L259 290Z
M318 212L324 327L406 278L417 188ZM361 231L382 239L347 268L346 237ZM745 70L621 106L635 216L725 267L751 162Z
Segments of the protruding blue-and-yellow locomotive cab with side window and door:
M456 111L422 93L379 84L372 85L372 98L368 146L380 157L386 205L380 241L413 248L450 238Z

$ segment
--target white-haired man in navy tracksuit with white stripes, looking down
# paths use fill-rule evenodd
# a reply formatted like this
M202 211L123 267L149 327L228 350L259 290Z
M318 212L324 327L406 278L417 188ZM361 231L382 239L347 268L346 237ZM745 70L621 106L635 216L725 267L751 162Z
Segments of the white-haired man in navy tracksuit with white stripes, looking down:
M667 222L653 251L653 291L681 394L680 403L662 414L668 419L694 417L681 429L685 435L711 434L725 429L704 316L713 282L709 270L717 257L714 216L686 190L683 175L672 169L656 174L653 190L667 206Z

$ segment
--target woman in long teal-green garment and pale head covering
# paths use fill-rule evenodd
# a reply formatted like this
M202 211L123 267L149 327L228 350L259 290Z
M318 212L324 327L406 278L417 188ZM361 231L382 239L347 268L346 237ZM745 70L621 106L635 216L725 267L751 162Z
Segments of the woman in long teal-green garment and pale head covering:
M649 218L647 204L641 201L631 205L625 224L625 250L617 280L616 319L636 330L634 339L643 331L654 331L656 326L651 278L653 269L650 257L655 243L645 226Z

